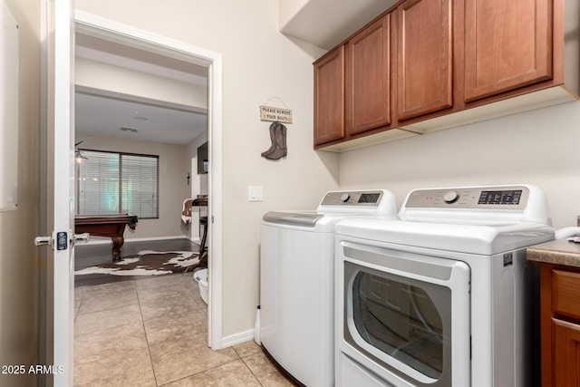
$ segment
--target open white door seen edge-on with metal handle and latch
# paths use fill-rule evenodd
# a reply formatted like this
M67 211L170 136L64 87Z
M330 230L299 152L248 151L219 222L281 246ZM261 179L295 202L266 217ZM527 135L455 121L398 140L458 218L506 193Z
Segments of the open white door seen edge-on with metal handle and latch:
M73 385L73 31L72 0L47 0L46 24L46 223L52 235L36 238L50 245L45 286L48 385ZM43 247L45 248L45 247ZM41 317L43 318L43 316ZM49 375L50 376L50 375Z

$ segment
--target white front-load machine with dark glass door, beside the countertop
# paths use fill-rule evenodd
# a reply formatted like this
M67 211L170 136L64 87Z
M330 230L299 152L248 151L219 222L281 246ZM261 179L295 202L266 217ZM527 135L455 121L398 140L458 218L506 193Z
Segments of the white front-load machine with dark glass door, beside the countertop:
M335 226L336 385L538 385L526 247L554 238L544 193L417 189L399 218Z

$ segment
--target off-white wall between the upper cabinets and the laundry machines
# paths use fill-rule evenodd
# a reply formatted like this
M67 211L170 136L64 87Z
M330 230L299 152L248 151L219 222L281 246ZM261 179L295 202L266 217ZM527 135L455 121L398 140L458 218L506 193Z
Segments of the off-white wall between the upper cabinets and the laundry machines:
M534 184L546 191L554 227L580 215L580 102L482 121L340 156L342 188L411 189Z

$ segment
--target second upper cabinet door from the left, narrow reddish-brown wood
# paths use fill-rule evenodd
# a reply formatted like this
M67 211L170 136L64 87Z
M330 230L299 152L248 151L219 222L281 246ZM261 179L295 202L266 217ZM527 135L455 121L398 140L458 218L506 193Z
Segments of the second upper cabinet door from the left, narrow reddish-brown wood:
M391 123L391 15L346 45L346 122L349 134Z

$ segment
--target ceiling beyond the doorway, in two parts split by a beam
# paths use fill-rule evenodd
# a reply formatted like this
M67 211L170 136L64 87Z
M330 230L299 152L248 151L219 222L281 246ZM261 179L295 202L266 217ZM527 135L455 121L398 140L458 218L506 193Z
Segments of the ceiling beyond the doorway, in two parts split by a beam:
M208 85L208 69L77 34L77 57L151 73L193 85ZM77 86L75 133L131 140L188 144L208 130L206 109Z

